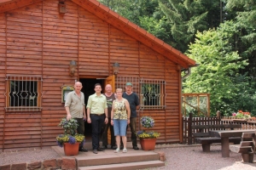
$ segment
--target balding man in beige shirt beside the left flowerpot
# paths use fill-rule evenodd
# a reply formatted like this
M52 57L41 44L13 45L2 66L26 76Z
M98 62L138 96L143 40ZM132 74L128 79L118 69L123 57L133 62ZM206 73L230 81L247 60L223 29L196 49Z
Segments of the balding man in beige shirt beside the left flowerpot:
M67 94L65 102L65 110L67 112L67 121L74 118L79 123L77 133L84 135L84 121L85 116L85 105L84 105L84 93L81 92L83 88L81 82L75 82L74 91ZM79 144L79 151L88 151L83 148L83 142Z

